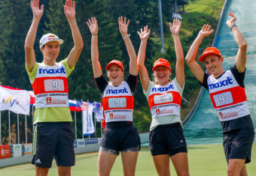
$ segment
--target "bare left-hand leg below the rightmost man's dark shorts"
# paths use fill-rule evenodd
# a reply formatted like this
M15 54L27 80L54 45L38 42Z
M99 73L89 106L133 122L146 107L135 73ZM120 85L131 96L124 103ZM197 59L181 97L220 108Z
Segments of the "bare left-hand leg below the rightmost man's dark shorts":
M242 168L245 165L245 160L242 159L230 159L228 160L228 176L240 176ZM244 172L244 171L243 171Z

